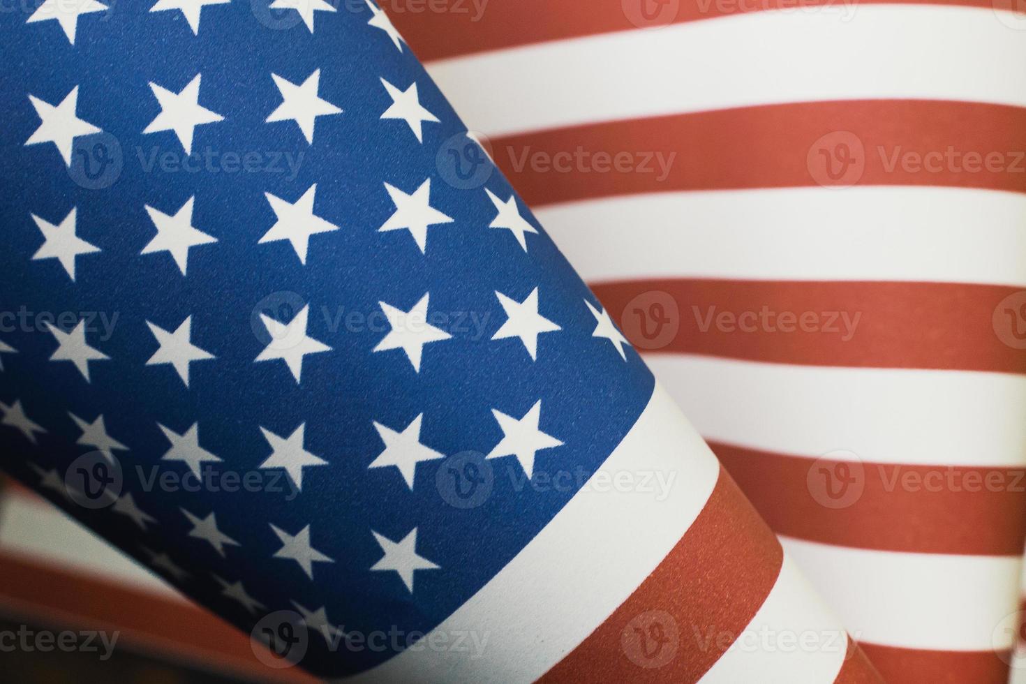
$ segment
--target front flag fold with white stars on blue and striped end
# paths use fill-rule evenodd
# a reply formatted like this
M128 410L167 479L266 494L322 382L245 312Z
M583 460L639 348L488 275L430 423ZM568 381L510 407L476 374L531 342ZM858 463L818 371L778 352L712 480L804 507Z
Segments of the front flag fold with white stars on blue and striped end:
M0 30L4 468L269 667L879 681L379 7Z

